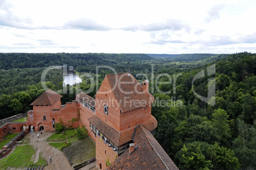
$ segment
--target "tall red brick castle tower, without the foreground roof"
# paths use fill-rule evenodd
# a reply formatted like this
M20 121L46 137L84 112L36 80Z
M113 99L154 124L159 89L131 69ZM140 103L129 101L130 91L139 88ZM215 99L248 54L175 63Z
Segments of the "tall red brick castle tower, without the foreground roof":
M138 125L154 133L157 121L151 115L153 96L148 93L149 82L143 86L129 73L108 74L96 93L96 115L89 119L96 135L96 165L106 169L133 138Z

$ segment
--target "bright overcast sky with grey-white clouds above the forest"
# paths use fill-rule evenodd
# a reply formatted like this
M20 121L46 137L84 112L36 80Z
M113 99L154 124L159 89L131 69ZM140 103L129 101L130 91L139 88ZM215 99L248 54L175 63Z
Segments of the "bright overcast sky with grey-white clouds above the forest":
M0 0L0 52L256 53L255 18L255 0Z

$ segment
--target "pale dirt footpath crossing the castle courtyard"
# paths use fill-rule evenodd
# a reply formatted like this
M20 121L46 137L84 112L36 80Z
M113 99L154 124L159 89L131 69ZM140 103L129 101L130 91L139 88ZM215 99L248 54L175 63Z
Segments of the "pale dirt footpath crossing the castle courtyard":
M48 166L45 166L43 169L64 169L69 170L73 169L68 162L64 152L60 151L58 148L53 148L52 146L48 145L46 139L51 136L53 133L43 132L43 134L38 138L38 133L29 133L25 136L25 138L30 138L29 145L32 145L36 150L36 155L32 157L34 162L37 162L39 154L47 160ZM52 162L49 162L49 157L52 156Z

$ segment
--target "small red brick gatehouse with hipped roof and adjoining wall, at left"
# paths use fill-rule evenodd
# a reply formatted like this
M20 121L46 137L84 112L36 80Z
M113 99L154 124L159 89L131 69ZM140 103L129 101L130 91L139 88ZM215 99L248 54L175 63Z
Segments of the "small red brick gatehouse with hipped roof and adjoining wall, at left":
M71 124L73 117L78 117L78 101L72 101L61 105L60 98L62 96L48 89L31 103L33 110L27 112L27 125L32 131L55 131L55 122L61 121L69 124L74 128L79 127L79 122Z

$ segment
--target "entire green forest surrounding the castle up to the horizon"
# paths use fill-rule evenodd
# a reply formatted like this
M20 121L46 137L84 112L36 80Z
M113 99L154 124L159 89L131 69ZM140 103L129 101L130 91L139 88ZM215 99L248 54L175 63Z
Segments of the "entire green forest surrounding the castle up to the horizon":
M152 115L158 121L155 138L180 169L256 169L256 54L0 53L0 60L0 119L31 109L30 103L44 91L41 74L47 67L68 65L77 74L97 77L93 85L88 77L80 83L82 90L94 86L89 93L93 97L96 85L113 73L104 68L97 72L97 66L109 66L131 72L139 82L149 79L155 97ZM192 85L195 75L211 65L216 65L215 74ZM160 77L158 83L152 74ZM176 77L175 84L167 75ZM195 95L208 96L213 83L215 96L207 102ZM79 92L68 86L74 93L61 93L58 69L48 72L46 85L60 91L62 104Z

